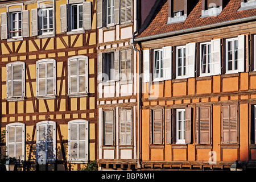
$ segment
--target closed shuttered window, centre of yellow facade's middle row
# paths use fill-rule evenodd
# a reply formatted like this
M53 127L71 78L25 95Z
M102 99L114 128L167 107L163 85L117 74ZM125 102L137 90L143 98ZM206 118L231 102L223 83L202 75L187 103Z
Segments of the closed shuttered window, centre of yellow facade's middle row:
M36 62L36 93L38 97L56 96L56 61L44 59Z

